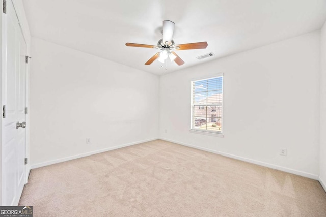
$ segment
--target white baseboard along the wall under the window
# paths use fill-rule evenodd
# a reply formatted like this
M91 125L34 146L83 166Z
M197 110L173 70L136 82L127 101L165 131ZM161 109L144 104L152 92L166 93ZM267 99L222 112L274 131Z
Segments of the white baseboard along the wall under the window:
M173 143L180 144L180 145L184 145L184 146L188 146L188 147L192 147L192 148L196 148L196 149L200 149L200 150L204 150L204 151L208 151L208 152L212 152L212 153L216 153L216 154L220 154L220 155L225 156L225 157L229 157L229 158L237 159L237 160L240 160L240 161L245 161L245 162L257 164L257 165L268 167L268 168L271 168L271 169L281 170L281 171L292 173L292 174L295 174L295 175L300 175L300 176L304 176L304 177L307 177L307 178L318 180L318 175L315 175L315 174L311 174L311 173L307 173L307 172L303 172L303 171L299 171L299 170L294 170L294 169L290 169L290 168L287 168L287 167L278 166L278 165L275 165L275 164L269 164L269 163L265 163L265 162L262 162L262 161L249 159L249 158L244 158L244 157L236 156L234 154L229 154L229 153L225 153L225 152L221 152L221 151L216 151L216 150L212 150L212 149L209 149L209 148L203 148L203 147L199 147L199 146L196 146L196 145L186 144L186 143L179 142L179 141L174 141L174 140L171 140L171 139L166 139L166 138L159 138L159 139L165 140L165 141L168 141L168 142L173 142Z

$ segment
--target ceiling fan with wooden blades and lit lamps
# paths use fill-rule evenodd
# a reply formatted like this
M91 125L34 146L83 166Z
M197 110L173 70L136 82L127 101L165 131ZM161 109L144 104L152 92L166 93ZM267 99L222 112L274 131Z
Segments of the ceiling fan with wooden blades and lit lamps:
M184 61L174 52L174 50L192 50L192 49L205 49L207 47L207 42L196 42L189 44L179 44L176 45L172 40L173 31L175 23L170 20L163 21L163 38L160 39L155 45L147 44L135 44L135 43L126 43L126 46L129 47L145 47L145 48L156 48L161 50L152 56L145 65L150 65L154 60L160 61L162 64L166 63L166 60L170 58L171 61L175 61L179 66L184 64ZM162 65L163 66L163 65Z

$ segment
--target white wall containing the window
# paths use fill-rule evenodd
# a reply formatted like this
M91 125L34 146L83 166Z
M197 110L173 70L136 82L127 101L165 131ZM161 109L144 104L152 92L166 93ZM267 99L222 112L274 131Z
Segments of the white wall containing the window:
M319 34L161 76L160 137L317 179ZM224 73L225 136L190 133L190 81L218 73Z

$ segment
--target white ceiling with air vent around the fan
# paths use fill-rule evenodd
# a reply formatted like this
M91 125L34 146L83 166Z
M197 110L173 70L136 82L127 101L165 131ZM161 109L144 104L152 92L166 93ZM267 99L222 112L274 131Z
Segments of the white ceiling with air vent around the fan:
M158 75L319 29L326 0L29 0L23 1L32 36ZM207 41L206 49L180 50L183 66L156 60L163 20L176 23L176 44ZM213 52L215 56L196 57Z

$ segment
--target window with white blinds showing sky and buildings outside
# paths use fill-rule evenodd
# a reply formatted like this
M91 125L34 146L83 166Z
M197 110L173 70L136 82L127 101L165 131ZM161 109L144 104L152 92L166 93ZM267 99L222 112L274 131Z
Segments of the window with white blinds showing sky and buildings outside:
M192 130L222 134L223 76L192 81Z

